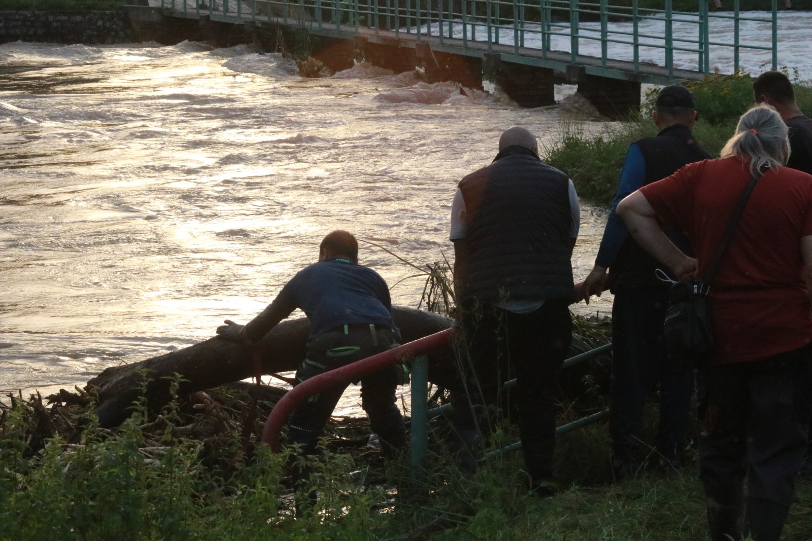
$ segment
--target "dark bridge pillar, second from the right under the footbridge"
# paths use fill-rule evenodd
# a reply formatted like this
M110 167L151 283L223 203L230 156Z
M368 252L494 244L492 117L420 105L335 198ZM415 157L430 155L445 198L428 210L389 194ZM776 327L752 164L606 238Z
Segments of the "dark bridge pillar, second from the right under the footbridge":
M555 83L549 68L503 62L499 53L488 53L482 58L482 70L485 79L502 88L520 107L555 104Z

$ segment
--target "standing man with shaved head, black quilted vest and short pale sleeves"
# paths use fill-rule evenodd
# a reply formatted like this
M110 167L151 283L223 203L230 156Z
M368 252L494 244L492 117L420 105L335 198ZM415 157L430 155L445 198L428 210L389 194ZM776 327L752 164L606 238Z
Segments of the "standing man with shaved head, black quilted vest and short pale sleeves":
M536 138L512 127L494 161L460 181L451 207L454 283L464 331L461 371L474 406L515 403L530 490L555 492L553 393L572 336L572 247L580 209L568 176L538 157ZM488 416L456 414L462 439L489 432ZM474 423L478 417L480 423Z

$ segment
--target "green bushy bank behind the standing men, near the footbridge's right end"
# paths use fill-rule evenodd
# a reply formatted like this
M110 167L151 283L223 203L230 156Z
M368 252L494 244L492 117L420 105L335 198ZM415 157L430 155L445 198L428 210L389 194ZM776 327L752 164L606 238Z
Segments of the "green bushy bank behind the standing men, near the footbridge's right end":
M798 106L810 114L812 84L798 80L797 74L788 75L793 79ZM699 113L693 135L711 156L719 156L738 118L753 106L752 79L748 75L709 75L703 82L687 86L693 90ZM628 145L657 134L650 118L656 93L649 92L637 117L611 122L597 134L585 134L577 122L564 124L555 142L542 149L542 157L570 175L579 196L597 204L611 204Z

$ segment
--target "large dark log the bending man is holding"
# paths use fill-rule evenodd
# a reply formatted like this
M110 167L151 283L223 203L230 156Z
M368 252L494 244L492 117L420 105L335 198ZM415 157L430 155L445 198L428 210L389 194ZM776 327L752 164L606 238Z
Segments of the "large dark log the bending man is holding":
M392 314L404 343L451 326L448 318L428 311L394 307ZM309 333L310 325L305 318L285 320L271 330L257 344L262 373L296 370L304 359ZM112 427L127 419L129 407L142 394L150 407L166 404L170 400L170 384L175 374L182 378L178 389L180 396L254 376L249 355L247 347L213 337L158 357L106 368L84 389L97 397L98 406L94 413L99 423L102 427ZM429 364L430 380L443 387L450 386L455 373L453 348L449 346L431 352Z

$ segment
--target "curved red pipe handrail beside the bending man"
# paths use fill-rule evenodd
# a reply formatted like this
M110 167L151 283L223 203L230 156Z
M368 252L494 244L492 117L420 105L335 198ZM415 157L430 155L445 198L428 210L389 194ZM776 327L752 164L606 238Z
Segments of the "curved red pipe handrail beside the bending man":
M347 384L356 381L369 372L376 371L382 367L394 364L404 358L414 358L425 354L439 347L447 346L453 337L453 329L430 334L427 337L419 338L408 342L403 346L398 346L383 353L373 355L367 359L361 359L347 366L326 371L323 374L314 376L309 380L304 380L293 389L284 394L271 410L265 427L262 429L262 441L269 444L271 449L279 450L279 433L291 412L307 397L318 393L322 389L327 389L333 385Z

